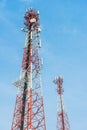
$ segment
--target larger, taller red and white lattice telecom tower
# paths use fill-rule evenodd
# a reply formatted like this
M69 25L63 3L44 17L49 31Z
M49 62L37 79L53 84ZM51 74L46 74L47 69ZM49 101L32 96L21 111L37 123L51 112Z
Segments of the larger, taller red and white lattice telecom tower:
M41 90L41 47L39 11L28 9L24 15L26 33L20 79L11 130L46 130Z

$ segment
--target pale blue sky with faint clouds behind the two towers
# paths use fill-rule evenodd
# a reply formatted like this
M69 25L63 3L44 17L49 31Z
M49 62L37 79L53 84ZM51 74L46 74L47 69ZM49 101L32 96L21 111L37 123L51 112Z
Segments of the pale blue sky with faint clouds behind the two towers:
M40 11L43 95L47 130L56 130L57 92L64 78L64 106L71 130L87 130L87 0L0 0L0 130L10 130L25 33L26 8Z

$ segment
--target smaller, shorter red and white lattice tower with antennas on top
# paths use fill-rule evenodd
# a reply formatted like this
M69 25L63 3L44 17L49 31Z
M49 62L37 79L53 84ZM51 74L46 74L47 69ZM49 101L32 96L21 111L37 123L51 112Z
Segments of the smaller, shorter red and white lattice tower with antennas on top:
M61 77L56 77L54 79L54 83L57 84L57 93L59 95L59 109L57 111L57 125L56 129L57 130L70 130L70 125L68 121L68 116L67 113L64 110L63 106L63 100L62 100L62 95L63 95L63 78Z

